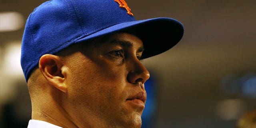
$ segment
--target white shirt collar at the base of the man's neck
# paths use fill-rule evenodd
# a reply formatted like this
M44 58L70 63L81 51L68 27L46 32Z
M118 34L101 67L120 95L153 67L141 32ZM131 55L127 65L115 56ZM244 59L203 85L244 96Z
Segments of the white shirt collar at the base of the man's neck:
M62 128L41 120L29 120L28 128Z

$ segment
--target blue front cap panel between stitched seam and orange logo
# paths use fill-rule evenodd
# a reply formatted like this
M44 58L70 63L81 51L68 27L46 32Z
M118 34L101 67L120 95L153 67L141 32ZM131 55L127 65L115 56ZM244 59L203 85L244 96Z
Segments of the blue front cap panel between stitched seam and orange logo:
M110 26L134 21L134 16L127 14L114 0L70 0L78 21L88 36Z

